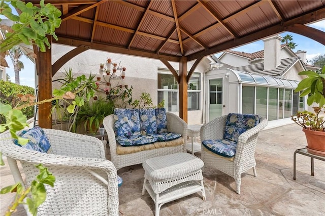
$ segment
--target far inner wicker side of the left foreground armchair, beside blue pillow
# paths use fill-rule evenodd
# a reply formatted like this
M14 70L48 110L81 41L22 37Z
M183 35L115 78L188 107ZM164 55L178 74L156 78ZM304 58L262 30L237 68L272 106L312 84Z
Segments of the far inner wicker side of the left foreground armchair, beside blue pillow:
M44 132L51 143L49 153L72 157L106 158L104 145L98 138L56 129L44 128Z

